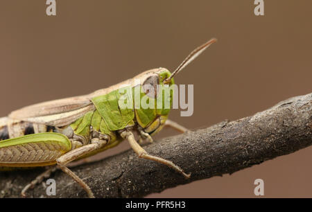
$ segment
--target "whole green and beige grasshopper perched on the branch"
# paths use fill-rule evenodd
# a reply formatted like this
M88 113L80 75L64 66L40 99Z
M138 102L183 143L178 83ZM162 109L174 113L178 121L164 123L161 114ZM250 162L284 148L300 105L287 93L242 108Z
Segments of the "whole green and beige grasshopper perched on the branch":
M170 89L175 83L173 76L214 42L216 39L210 39L192 51L173 73L164 68L151 69L92 94L31 105L0 118L0 170L48 167L42 175L25 186L21 191L22 196L26 196L29 188L60 168L78 182L89 197L94 197L89 186L71 172L67 164L112 148L127 139L139 157L165 164L189 178L190 175L172 161L148 154L135 137L138 134L139 141L148 139L152 142L151 136L164 126L180 132L186 132L187 129L168 120L170 108L121 107L119 90L125 88L125 85L132 90L139 87L139 93L133 92L133 98L128 100L147 98L150 103L160 101L163 105L168 102L171 105L173 92L168 98L159 99L157 93L160 91L155 89L149 92L144 86Z

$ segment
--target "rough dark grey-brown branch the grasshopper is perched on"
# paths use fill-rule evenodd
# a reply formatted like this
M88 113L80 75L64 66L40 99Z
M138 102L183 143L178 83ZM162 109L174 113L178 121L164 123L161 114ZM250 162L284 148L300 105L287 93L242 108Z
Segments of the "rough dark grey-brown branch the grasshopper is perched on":
M290 154L312 144L312 94L285 100L264 112L224 121L206 129L168 137L144 147L150 154L173 161L191 179L162 164L139 159L132 150L72 170L96 197L144 197L198 179L234 173ZM20 197L21 189L42 170L0 173L0 197ZM58 171L56 197L86 197L78 184ZM46 197L42 185L28 197Z

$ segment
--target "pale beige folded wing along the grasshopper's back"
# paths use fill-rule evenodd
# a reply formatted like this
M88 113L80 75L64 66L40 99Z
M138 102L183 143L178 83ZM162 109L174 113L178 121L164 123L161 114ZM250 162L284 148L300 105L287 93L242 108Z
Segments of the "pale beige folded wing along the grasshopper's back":
M52 100L18 109L8 116L14 120L42 123L55 127L69 125L95 107L87 96Z

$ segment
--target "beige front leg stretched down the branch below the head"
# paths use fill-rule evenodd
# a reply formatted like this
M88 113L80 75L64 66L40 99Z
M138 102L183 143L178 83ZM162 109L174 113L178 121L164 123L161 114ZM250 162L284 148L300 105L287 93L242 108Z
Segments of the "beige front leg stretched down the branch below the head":
M156 161L156 162L164 164L164 165L166 165L166 166L168 166L170 168L173 168L174 170L176 170L178 173L182 174L187 179L189 177L191 177L190 174L184 173L182 168L180 168L179 166L173 164L172 161L168 161L166 159L162 159L161 157L156 157L156 156L148 154L148 152L146 152L146 150L144 150L144 148L141 148L139 143L137 143L137 141L135 140L135 136L133 135L132 132L130 132L130 131L123 131L123 132L120 133L120 135L121 135L121 137L123 137L123 139L128 139L131 148L135 151L135 153L137 153L137 155L139 157L144 158L144 159L148 159L148 160L152 160L152 161Z

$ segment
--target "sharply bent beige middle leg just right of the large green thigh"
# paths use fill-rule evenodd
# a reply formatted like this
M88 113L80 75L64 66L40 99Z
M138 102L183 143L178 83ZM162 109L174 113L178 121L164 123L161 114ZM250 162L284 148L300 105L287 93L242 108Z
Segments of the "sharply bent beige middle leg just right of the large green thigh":
M85 182L83 182L83 179L80 179L78 175L69 170L66 165L69 164L71 161L83 157L85 154L103 148L106 143L107 141L105 140L99 140L95 143L90 143L88 145L84 145L80 148L72 150L71 152L67 152L66 154L63 154L61 157L56 159L58 167L60 167L60 169L62 169L64 173L67 173L67 175L71 176L80 186L82 186L90 198L94 198L94 194L92 193L91 188Z

